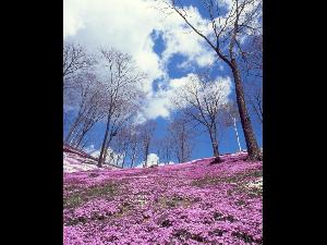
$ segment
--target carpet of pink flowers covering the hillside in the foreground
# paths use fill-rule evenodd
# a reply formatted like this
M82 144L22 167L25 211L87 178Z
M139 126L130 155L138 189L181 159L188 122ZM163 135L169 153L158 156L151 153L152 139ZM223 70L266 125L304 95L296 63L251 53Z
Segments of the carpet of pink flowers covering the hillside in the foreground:
M64 173L64 244L263 244L262 162L245 157Z

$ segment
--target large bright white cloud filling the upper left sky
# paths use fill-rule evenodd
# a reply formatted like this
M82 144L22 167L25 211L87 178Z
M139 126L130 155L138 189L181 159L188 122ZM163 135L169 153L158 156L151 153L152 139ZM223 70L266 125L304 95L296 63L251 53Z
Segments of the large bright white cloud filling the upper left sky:
M143 88L147 102L143 118L167 118L170 114L167 94L172 91L173 81L167 65L174 54L182 54L185 61L181 68L207 66L215 61L207 44L185 26L177 14L164 17L155 7L162 2L148 0L64 0L63 37L78 42L90 51L113 47L130 53L136 65L147 73ZM209 32L209 23L196 8L187 7L192 23L203 33ZM154 34L155 35L152 35ZM165 49L161 58L154 51L154 36L161 35ZM155 79L162 79L168 88L153 90ZM142 117L141 117L142 118Z

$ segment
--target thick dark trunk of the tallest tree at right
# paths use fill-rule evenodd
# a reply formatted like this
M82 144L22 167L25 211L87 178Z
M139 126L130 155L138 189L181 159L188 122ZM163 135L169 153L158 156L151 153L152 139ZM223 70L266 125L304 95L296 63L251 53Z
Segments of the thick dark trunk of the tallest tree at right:
M238 69L238 64L235 59L231 59L232 64L232 74L234 77L235 83L235 94L237 94L237 102L239 108L239 113L241 118L241 124L245 137L247 154L250 160L262 160L259 147L257 145L252 125L251 120L246 110L245 99L244 99L244 91L242 87L242 79L240 75L240 71Z

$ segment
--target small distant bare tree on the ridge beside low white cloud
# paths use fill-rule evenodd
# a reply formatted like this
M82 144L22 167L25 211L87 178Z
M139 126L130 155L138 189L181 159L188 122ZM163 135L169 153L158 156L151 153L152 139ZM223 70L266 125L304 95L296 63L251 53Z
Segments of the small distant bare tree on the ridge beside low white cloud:
M145 167L147 164L147 156L149 155L156 125L156 122L153 120L146 121L140 125L140 136L143 147L143 160Z

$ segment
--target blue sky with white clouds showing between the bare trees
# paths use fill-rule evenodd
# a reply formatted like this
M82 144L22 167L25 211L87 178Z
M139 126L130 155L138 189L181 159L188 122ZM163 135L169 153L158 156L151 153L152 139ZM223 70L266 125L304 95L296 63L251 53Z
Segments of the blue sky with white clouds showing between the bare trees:
M206 17L204 9L196 4L197 1L184 2L186 5L192 3L194 8L197 8L198 12L194 12L193 15L203 20ZM189 34L184 32L185 34L179 35L183 32L183 22L179 16L159 20L159 13L148 8L148 1L81 0L76 2L64 0L63 23L65 41L78 42L90 51L95 51L98 47L114 47L135 58L136 64L149 74L145 87L148 86L153 90L149 101L153 101L154 108L158 102L156 95L160 90L159 84L168 86L170 79L185 77L194 71L204 71L210 66L208 64L211 64L211 61L216 60L215 53L208 46L194 34L190 34L190 30ZM201 60L203 62L199 62ZM211 66L211 75L232 78L230 70L222 62L216 62ZM245 82L252 79L257 78L247 77ZM231 98L234 97L232 89ZM158 102L158 105L162 103ZM157 138L166 132L169 123L167 113L172 112L159 106L157 110L148 110L147 117L157 122L155 132ZM262 146L262 124L255 119L252 117L252 124L257 142ZM96 124L87 135L88 145L94 145L96 149L100 147L104 126L104 123ZM245 142L240 122L238 131L244 149ZM235 152L238 143L233 127L227 128L223 136L219 146L220 152ZM152 149L152 152L156 150ZM210 142L204 132L196 138L192 159L210 156L213 156ZM172 160L175 161L175 159Z

